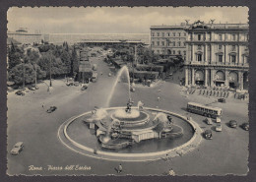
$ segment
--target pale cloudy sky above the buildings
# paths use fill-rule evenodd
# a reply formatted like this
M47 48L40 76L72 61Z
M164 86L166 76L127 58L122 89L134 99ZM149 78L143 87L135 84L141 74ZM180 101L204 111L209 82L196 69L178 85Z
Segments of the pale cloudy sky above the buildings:
M185 20L208 23L247 23L246 7L13 7L8 30L28 28L52 33L148 33L151 26L180 25Z

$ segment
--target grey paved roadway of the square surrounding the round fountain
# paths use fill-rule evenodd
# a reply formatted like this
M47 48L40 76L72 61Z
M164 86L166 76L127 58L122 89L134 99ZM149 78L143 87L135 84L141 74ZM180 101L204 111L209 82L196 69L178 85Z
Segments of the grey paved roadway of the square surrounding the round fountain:
M57 130L63 121L95 106L104 106L106 102L115 78L107 76L110 69L104 62L97 58L92 61L98 62L97 72L102 72L103 75L98 74L97 82L91 83L87 91L80 91L79 87L66 87L64 81L53 81L53 90L50 92L47 92L44 84L40 84L38 91L30 91L25 96L18 96L13 92L8 94L8 174L117 175L114 168L118 166L118 161L78 154L64 147L57 139ZM214 101L213 98L197 95L186 96L179 90L178 85L165 82L155 88L138 87L132 92L132 97L135 103L143 100L147 106L159 106L180 114L187 114L184 107L189 100L205 103ZM127 99L127 86L120 83L114 91L110 106L124 105ZM57 106L57 110L48 114L45 110L50 105ZM237 119L239 123L248 120L246 102L227 100L227 103L213 105L224 108L224 123L229 119ZM191 116L201 127L211 129L202 122L203 117L194 114ZM223 132L213 134L212 141L203 140L198 150L183 156L153 162L122 162L123 173L120 175L161 175L166 174L170 168L178 175L246 173L248 132L240 128L230 129L223 124ZM19 141L24 142L25 150L19 155L11 155L12 146ZM29 166L32 165L37 168L31 169L36 170L30 170ZM69 165L84 167L75 170L72 166L68 168ZM42 170L39 170L40 167Z

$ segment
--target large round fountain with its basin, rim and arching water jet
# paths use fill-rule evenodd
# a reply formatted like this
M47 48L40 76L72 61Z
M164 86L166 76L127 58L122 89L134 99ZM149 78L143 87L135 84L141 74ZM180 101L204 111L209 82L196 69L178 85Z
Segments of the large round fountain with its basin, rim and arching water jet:
M128 101L126 106L109 107L110 100L122 74L125 74L128 81ZM120 156L127 157L131 155L131 159L134 159L136 154L141 157L141 152L161 153L162 150L170 152L169 150L174 150L174 148L187 144L193 139L195 127L189 123L192 121L186 121L182 116L169 111L145 107L142 101L138 101L136 106L133 106L133 104L129 71L124 66L118 72L107 97L107 106L95 108L92 112L86 112L76 117L76 119L64 123L59 129L60 136L63 133L61 141L68 140L69 142L66 142L65 145L72 145L69 148L91 152L91 156L100 153L108 157L117 157L120 154L113 154L112 152L124 152L124 155L121 154ZM78 121L83 121L81 122L83 125L79 124ZM94 132L86 132L85 124L90 131ZM61 133L61 130L64 132ZM200 131L200 128L197 131ZM77 133L81 133L82 136ZM86 137L83 138L83 135L86 135ZM148 148L146 151L142 150L145 145ZM129 152L132 153L127 153L126 149L129 149Z

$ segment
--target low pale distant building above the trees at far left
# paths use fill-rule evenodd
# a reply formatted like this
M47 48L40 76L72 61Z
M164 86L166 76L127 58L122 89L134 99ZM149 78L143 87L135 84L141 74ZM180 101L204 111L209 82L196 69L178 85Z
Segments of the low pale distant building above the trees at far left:
M22 44L41 43L41 40L44 39L41 33L30 33L25 29L8 31L7 36L21 42Z

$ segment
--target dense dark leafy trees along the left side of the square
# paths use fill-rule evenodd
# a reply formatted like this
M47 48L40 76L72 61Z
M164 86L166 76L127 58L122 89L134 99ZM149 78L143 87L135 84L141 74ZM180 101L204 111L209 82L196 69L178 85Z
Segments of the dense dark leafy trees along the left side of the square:
M36 79L73 77L79 71L79 58L74 46L44 44L38 47L8 47L8 78L16 85L32 84Z

